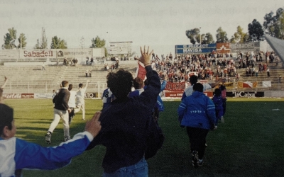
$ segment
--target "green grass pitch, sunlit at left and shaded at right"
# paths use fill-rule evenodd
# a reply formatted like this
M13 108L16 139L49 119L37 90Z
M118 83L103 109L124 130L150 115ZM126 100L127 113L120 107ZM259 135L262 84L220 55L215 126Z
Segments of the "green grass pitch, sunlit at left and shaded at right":
M5 100L14 108L16 136L44 147L45 133L53 120L50 99ZM283 176L284 175L284 99L228 98L225 123L209 132L204 166L195 169L190 163L190 144L178 123L180 101L164 101L160 127L165 143L148 160L149 176ZM86 100L86 118L102 108L101 100ZM276 109L276 110L275 110ZM278 110L277 110L278 109ZM75 115L70 134L84 130L81 112ZM62 122L53 132L52 146L63 140ZM72 163L55 171L24 170L23 176L102 176L102 146L84 152Z

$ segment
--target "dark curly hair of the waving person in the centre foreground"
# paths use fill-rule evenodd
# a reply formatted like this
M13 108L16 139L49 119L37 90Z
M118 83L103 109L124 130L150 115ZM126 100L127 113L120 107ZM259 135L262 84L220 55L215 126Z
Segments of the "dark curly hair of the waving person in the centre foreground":
M129 71L119 69L117 72L107 74L107 87L116 98L127 98L133 85L133 76Z

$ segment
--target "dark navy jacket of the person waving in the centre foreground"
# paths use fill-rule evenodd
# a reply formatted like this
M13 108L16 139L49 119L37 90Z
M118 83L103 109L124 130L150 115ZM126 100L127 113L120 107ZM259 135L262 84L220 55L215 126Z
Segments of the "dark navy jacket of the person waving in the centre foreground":
M103 168L113 173L140 161L146 150L148 125L153 121L152 110L160 93L160 78L151 66L146 67L148 87L140 96L116 99L102 110L102 130L87 149L98 144L107 147Z

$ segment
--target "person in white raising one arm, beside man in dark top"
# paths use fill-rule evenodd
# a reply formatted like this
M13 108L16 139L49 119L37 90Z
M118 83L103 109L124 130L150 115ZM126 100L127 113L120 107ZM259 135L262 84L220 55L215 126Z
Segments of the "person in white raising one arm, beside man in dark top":
M82 120L85 120L84 118L84 93L86 92L88 82L86 83L86 86L83 86L83 84L79 84L79 89L76 94L76 109L75 113L79 112L82 110Z

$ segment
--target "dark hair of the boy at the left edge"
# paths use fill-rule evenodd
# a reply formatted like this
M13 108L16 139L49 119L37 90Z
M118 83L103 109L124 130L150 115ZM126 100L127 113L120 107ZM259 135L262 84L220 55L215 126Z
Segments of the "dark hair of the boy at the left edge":
M0 103L0 115L0 135L2 135L6 126L8 126L9 130L12 130L13 108Z

